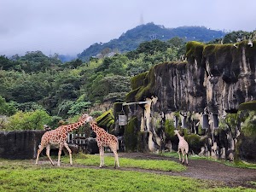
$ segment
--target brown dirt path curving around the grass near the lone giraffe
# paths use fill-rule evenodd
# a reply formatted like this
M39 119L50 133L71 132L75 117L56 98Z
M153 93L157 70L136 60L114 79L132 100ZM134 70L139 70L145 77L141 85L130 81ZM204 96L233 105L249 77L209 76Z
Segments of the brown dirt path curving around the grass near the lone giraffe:
M105 155L108 155L106 153ZM113 155L112 153L109 155ZM158 154L144 154L144 153L119 153L119 157L140 159L140 160L173 160L179 162L177 158L164 157ZM41 161L41 163L43 163ZM44 162L46 163L46 162ZM47 163L49 161L47 160ZM62 163L61 163L62 164ZM63 165L63 164L62 164ZM65 166L69 166L68 164ZM97 166L81 166L78 167L90 167L99 168ZM104 169L114 169L113 167L104 167ZM136 172L152 172L156 174L170 175L170 176L182 176L193 177L202 180L210 180L214 183L224 184L225 186L236 187L243 186L246 188L256 189L255 184L248 183L249 181L256 182L256 170L255 169L243 169L231 166L225 166L224 164L214 162L211 160L189 160L189 166L184 172L164 172L145 170L140 168L126 168L120 165L121 171L136 171Z

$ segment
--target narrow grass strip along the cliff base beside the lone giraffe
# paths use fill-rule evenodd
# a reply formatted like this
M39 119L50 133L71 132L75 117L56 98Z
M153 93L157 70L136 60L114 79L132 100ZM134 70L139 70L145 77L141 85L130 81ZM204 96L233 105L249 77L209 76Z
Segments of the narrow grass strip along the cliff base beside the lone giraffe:
M174 157L178 159L178 154L177 152L166 152L160 154L162 156L166 157ZM223 163L226 166L233 166L233 167L238 167L238 168L248 168L248 169L256 169L256 164L253 163L247 163L245 161L237 161L237 162L231 162L231 161L226 161L226 160L214 160L211 157L203 157L203 156L198 156L198 155L189 155L188 156L189 160L211 160L214 162L218 163Z

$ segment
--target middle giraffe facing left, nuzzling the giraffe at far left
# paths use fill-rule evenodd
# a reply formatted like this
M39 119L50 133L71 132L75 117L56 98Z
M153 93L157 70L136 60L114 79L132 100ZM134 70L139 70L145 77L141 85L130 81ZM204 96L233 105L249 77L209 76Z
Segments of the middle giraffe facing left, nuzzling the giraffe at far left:
M99 127L92 117L89 121L92 131L96 133L96 142L99 147L101 157L100 167L104 166L104 147L109 147L113 151L114 168L116 168L116 165L119 167L119 156L117 154L117 150L119 149L118 138Z

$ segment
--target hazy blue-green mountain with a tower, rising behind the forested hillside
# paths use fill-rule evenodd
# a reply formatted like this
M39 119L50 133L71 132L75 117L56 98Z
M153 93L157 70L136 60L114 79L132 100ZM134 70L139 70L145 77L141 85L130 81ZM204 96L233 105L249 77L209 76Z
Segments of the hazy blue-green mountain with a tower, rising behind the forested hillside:
M211 30L205 26L180 26L177 28L166 28L165 26L148 23L128 30L119 38L110 40L105 44L92 44L89 48L84 49L78 55L79 59L88 61L91 56L95 56L103 49L111 49L120 53L137 49L138 45L154 39L166 41L174 37L184 38L185 41L201 41L207 43L215 38L224 37L225 32Z

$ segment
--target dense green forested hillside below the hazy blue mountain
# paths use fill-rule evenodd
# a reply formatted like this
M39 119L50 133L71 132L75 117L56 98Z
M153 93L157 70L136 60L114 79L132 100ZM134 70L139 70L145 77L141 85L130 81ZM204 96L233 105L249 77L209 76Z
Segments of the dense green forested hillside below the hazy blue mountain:
M233 43L252 34L232 32L224 40ZM84 110L101 114L113 108L113 102L125 101L132 76L165 61L183 60L185 46L183 38L155 39L125 54L65 63L58 55L41 51L10 58L1 55L0 130L27 129L27 122L33 120L31 129L43 129L43 123L56 127L61 119L75 118ZM8 123L3 115L10 117Z

